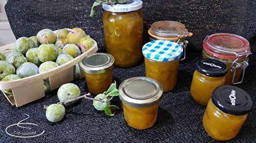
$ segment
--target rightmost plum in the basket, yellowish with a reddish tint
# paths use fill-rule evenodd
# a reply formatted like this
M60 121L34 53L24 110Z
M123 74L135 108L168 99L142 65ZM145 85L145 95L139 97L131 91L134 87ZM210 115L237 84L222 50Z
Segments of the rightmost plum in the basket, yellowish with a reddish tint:
M77 46L80 48L81 52L84 53L87 50L89 50L94 45L94 40L89 37L83 37L80 39L80 41L77 43Z

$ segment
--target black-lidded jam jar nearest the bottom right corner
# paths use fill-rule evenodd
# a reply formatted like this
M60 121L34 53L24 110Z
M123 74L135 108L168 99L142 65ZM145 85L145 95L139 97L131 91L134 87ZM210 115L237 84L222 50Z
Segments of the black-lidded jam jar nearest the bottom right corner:
M204 116L205 131L216 140L229 140L240 131L251 109L250 96L240 88L224 85L209 100Z

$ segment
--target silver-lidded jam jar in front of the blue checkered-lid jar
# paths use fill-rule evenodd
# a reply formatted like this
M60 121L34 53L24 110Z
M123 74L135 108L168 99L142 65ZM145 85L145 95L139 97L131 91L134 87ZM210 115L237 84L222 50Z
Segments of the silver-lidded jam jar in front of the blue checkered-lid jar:
M132 77L119 86L123 114L127 124L136 129L147 129L157 120L163 89L159 82L148 77Z

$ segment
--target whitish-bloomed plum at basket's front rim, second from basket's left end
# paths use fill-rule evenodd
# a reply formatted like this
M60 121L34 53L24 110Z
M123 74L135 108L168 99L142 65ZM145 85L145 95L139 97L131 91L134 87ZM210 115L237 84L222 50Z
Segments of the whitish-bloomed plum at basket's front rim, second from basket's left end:
M29 77L38 73L38 67L30 62L20 65L16 71L16 74L19 75L21 78Z

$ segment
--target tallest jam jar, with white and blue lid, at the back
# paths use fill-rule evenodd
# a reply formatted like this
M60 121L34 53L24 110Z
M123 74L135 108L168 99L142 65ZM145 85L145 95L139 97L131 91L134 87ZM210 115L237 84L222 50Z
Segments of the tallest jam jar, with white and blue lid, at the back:
M106 52L115 58L115 66L132 67L142 58L143 13L141 0L129 0L114 6L103 4L103 29Z

